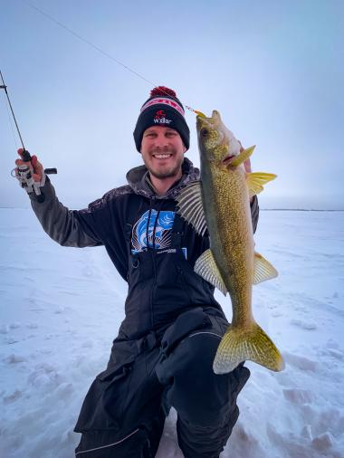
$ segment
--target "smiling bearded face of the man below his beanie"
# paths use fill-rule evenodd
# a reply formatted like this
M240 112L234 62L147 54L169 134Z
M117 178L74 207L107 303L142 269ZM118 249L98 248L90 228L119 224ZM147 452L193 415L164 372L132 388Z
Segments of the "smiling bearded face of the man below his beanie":
M143 133L141 154L145 166L154 177L177 177L185 152L183 140L175 129L153 126Z

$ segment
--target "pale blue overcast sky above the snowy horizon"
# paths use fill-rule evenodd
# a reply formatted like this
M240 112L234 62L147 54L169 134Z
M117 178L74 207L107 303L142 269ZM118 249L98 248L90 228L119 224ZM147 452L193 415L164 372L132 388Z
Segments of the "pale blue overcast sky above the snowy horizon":
M341 0L0 5L0 70L24 146L57 167L64 205L85 207L126 184L142 162L132 137L139 109L165 85L185 106L219 110L245 147L256 145L253 171L278 176L262 208L344 209ZM0 206L27 207L10 176L20 142L1 92ZM195 114L186 110L186 121L186 156L199 165Z

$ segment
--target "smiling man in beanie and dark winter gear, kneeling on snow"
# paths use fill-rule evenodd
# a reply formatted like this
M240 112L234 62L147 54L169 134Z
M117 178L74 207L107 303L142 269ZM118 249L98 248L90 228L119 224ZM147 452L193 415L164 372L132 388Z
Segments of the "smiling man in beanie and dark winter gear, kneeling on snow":
M75 426L81 433L76 456L154 457L174 406L184 456L218 458L239 415L236 397L249 370L241 364L215 375L212 369L228 322L214 287L193 270L208 236L196 234L176 213L176 197L199 171L184 157L189 129L174 91L151 91L134 139L145 166L129 170L129 185L81 211L58 201L32 159L44 196L39 203L32 194L32 206L43 229L63 246L104 245L129 284L108 367L93 381ZM255 229L256 197L251 208Z

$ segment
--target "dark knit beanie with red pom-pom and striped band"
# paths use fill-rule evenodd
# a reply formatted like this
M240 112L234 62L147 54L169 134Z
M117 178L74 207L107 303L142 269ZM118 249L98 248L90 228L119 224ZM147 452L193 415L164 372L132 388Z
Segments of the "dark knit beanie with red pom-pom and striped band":
M186 149L190 146L190 130L187 127L184 107L177 99L176 92L164 86L150 91L150 97L142 105L134 130L137 150L141 150L143 133L152 126L176 129Z

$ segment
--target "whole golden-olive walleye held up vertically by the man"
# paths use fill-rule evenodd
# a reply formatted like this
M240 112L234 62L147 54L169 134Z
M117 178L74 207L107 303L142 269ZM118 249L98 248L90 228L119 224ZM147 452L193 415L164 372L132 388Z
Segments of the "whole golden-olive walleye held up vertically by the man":
M250 196L276 176L246 173L244 161L255 147L241 146L217 111L211 118L198 114L201 180L178 196L178 213L205 234L210 249L195 264L195 272L232 301L233 320L217 348L214 371L225 374L250 359L274 371L284 367L282 355L253 319L252 286L277 276L272 264L254 252Z

